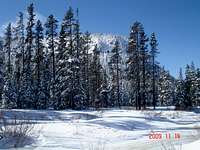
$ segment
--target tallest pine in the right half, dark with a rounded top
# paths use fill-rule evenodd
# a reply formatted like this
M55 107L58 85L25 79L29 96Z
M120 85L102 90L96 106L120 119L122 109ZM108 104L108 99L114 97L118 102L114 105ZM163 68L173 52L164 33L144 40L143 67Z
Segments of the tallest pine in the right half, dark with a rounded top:
M131 28L128 44L127 76L130 81L132 91L130 95L135 99L136 109L141 109L141 51L140 39L144 32L140 22L135 22ZM135 98L134 98L135 97Z

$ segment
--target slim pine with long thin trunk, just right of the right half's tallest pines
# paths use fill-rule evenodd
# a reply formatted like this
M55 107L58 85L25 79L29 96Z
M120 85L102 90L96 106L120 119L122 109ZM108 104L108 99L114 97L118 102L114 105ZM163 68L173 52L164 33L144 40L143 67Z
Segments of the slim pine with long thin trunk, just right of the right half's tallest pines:
M152 33L151 34L151 39L150 39L150 46L151 46L151 51L150 51L150 54L151 54L151 59L152 59L152 63L151 63L151 66L152 66L152 97L153 97L153 107L154 109L156 108L156 102L157 102L157 95L156 95L156 61L155 61L155 58L158 54L158 49L157 49L157 46L158 46L158 43L157 43L157 39L156 39L156 36L155 36L155 33Z

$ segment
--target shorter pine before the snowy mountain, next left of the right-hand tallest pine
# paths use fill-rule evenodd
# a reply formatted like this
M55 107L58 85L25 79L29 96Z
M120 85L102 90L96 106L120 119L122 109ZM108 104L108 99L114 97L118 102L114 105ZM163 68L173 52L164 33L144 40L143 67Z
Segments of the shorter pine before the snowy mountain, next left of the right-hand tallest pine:
M121 68L121 61L122 58L120 56L120 45L119 41L115 42L115 46L111 51L111 57L110 57L110 62L109 62L109 68L111 70L111 76L112 76L112 99L113 101L117 101L117 105L120 107L121 105L121 73L122 73L122 68Z

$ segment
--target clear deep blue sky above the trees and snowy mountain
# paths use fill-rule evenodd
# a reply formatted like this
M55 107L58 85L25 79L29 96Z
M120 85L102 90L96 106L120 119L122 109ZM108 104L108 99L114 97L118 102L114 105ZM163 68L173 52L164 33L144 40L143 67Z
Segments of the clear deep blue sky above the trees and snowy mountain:
M83 31L128 36L135 21L148 35L156 32L161 65L177 75L194 61L200 67L200 1L198 0L1 0L0 25L34 2L41 16L62 20L69 5L79 8Z

